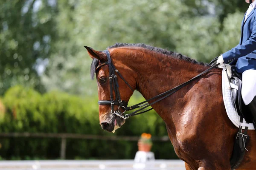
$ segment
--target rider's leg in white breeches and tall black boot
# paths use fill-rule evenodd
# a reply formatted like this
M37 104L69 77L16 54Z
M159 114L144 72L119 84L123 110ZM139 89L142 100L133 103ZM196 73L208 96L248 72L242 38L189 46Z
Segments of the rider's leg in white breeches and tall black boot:
M253 116L253 122L256 125L256 70L246 70L242 74L242 90L241 95L244 104Z

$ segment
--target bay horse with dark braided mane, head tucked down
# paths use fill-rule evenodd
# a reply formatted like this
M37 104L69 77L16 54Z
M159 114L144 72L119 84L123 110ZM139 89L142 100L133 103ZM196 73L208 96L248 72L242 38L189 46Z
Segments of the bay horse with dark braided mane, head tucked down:
M116 43L108 47L109 57L105 51L85 48L93 59L92 78L96 72L100 125L109 132L125 123L124 117L114 114L120 105L110 105L110 100L119 97L121 102L128 103L134 90L145 99L151 99L210 67L182 54L144 44ZM115 77L119 94L113 93L116 86L109 80L113 71L108 62L110 56L113 68L119 73ZM222 69L213 68L151 105L165 122L175 153L185 162L186 170L231 169L230 157L238 128L229 120L224 108L221 72ZM246 148L249 151L237 170L256 169L255 130L249 130L248 135L250 141Z

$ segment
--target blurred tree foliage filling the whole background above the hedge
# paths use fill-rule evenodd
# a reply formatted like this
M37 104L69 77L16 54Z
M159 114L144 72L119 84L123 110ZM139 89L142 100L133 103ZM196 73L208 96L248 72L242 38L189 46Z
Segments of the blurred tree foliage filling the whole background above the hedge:
M248 6L241 0L0 3L0 95L17 84L41 93L96 94L84 45L104 50L142 42L209 62L238 43Z

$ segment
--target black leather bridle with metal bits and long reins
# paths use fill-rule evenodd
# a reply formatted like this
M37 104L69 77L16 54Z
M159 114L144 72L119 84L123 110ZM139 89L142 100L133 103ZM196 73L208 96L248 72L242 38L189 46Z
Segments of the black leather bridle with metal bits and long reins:
M110 100L99 100L98 104L99 105L111 105L111 113L115 114L116 116L119 116L123 119L128 119L131 116L135 116L138 114L142 114L145 112L148 112L150 110L152 110L153 108L149 108L145 111L142 111L145 108L148 108L149 106L155 104L156 102L159 102L160 100L165 99L166 97L170 96L171 94L174 94L176 91L180 90L181 88L183 88L184 86L188 85L190 82L192 82L193 80L195 80L196 78L200 77L201 75L207 73L208 71L212 70L212 68L215 68L217 65L219 64L214 64L218 57L216 57L215 59L212 60L212 62L210 62L209 64L212 64L212 66L210 68L208 68L207 70L203 71L202 73L198 74L197 76L193 77L192 79L190 79L187 82L184 82L178 86L176 86L175 88L170 89L169 91L166 91L162 94L158 94L157 96L154 96L150 99L145 100L144 102L140 102L136 105L132 105L130 107L127 107L128 102L126 101L122 101L120 93L119 93L119 85L117 82L117 76L116 73L119 75L119 77L121 77L121 79L125 82L126 85L128 85L128 87L134 91L134 89L131 87L131 85L129 85L129 83L122 77L122 75L119 73L119 71L115 68L115 66L113 65L113 63L111 62L111 57L110 57L110 53L108 50L103 51L108 58L107 62L101 63L99 64L96 68L95 71L97 71L99 68L101 68L104 65L108 65L109 67L109 82L110 82ZM113 99L113 90L116 96L116 99ZM156 99L154 102L148 103L149 101ZM114 105L119 106L117 108L117 111L114 111ZM140 108L132 113L129 114L125 114L123 115L126 111L131 111L134 109ZM123 111L120 111L120 109L122 109Z

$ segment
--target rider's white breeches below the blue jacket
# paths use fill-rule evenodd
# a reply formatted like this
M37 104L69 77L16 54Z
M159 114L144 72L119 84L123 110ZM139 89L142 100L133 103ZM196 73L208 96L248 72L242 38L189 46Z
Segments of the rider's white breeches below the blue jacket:
M245 105L249 105L256 96L256 70L246 70L242 74L241 95Z

